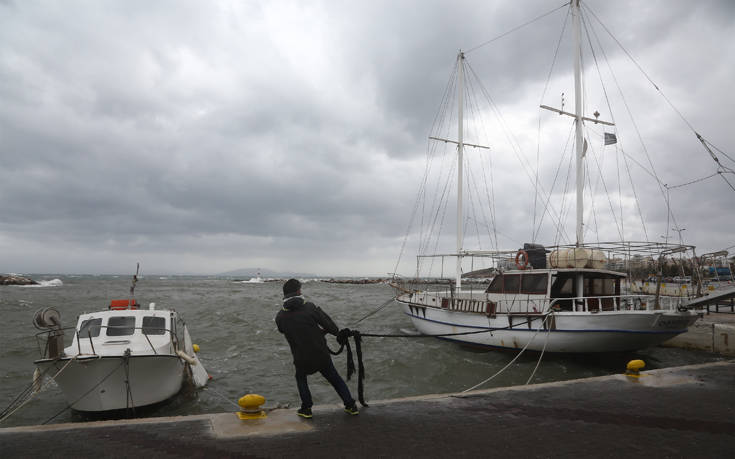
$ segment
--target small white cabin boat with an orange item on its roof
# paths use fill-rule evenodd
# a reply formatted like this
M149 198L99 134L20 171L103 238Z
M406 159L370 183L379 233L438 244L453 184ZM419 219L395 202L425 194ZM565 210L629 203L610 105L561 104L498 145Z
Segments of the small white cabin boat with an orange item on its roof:
M152 405L187 381L203 387L209 379L179 314L154 303L140 309L133 299L112 300L107 310L81 314L67 347L56 309L36 312L34 325L46 334L36 375L54 378L77 411Z

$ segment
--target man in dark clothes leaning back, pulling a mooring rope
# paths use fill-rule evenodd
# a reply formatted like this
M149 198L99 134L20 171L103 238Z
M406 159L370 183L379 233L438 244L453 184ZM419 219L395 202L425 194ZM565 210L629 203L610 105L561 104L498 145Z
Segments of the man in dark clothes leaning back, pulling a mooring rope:
M345 404L345 412L359 414L347 384L334 368L327 341L324 339L327 333L338 335L339 329L321 308L304 301L301 296L301 282L296 279L289 279L283 284L283 307L276 315L276 325L278 331L286 335L296 367L296 386L301 397L301 408L297 414L306 419L312 417L313 403L306 377L317 371L337 391Z

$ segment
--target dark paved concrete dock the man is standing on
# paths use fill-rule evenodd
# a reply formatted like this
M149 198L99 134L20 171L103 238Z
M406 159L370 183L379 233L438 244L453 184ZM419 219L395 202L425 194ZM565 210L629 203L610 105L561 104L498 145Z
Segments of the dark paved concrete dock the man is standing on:
M263 394L267 396L267 394ZM735 361L373 402L0 429L0 457L732 457Z

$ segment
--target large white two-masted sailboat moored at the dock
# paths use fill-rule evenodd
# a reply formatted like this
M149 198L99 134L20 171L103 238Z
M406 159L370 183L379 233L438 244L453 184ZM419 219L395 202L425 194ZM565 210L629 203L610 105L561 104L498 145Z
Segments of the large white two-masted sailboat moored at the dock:
M631 351L660 344L687 331L699 317L688 297L634 293L630 289L631 257L649 260L653 269L666 258L691 253L695 247L666 242L585 242L584 187L586 125L614 126L595 113L583 114L581 81L580 2L570 3L575 40L573 113L542 105L574 123L576 163L576 240L569 244L524 244L513 250L468 250L464 244L463 154L465 148L487 148L464 140L465 53L457 55L457 138L430 137L430 142L456 145L456 251L419 254L410 281L394 279L395 300L422 334L463 344L500 349L559 353ZM469 99L468 99L469 100ZM612 141L614 135L608 138ZM453 166L454 167L454 166ZM571 174L570 174L571 175ZM438 214L437 214L438 215ZM428 244L427 244L428 245ZM456 260L453 280L442 285L422 277L419 268L446 258ZM489 285L463 279L463 261L487 259L481 270ZM626 261L627 260L627 261ZM434 263L436 262L436 263ZM480 270L478 270L480 271ZM473 276L469 276L473 277ZM477 277L477 276L475 276ZM463 282L464 281L464 282ZM660 276L659 276L660 283ZM692 292L694 295L696 292Z

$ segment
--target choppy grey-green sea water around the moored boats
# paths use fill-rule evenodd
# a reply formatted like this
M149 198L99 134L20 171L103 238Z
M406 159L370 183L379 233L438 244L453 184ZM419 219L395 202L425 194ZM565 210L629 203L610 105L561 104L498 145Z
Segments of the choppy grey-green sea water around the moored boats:
M32 325L33 314L54 307L64 326L76 324L77 316L107 308L111 299L126 298L129 276L35 275L40 286L0 286L0 410L31 383L39 358L39 344ZM199 358L212 376L208 386L182 392L169 402L138 412L142 416L175 416L236 411L242 395L257 393L266 406L299 406L288 344L273 321L281 303L281 283L242 283L227 278L164 277L148 275L136 287L142 306L174 308L189 326L199 344ZM381 400L421 394L459 392L474 386L506 366L516 352L478 350L435 338L415 338L410 320L397 304L375 311L393 295L383 284L332 284L307 281L303 293L321 306L339 327L363 333L406 334L406 338L363 339L366 371L365 397ZM69 342L66 343L68 345ZM330 341L333 349L338 346ZM525 384L539 354L525 353L484 388ZM609 355L549 355L541 359L532 383L561 381L620 373L631 359L642 359L646 369L664 368L718 360L712 354L675 348L653 347L638 352ZM333 358L346 375L346 357ZM338 403L339 398L320 375L309 378L316 404ZM356 397L357 381L348 382ZM89 418L71 410L61 390L49 384L0 427L84 422Z

